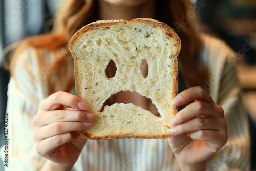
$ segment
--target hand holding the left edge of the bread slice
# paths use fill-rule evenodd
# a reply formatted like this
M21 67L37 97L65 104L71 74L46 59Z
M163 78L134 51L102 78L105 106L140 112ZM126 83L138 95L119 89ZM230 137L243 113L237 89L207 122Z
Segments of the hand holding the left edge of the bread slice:
M37 153L49 159L48 163L72 168L86 144L79 131L92 126L96 118L89 109L82 99L67 92L56 92L42 100L33 119Z

